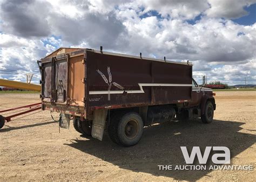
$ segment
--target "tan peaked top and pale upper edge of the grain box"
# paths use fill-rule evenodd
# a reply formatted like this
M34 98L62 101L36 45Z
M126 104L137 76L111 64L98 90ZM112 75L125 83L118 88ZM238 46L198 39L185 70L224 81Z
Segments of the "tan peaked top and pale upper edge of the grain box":
M50 53L49 55L47 55L46 57L44 57L42 60L49 59L49 58L55 57L60 54L66 54L66 53L71 53L71 52L77 52L77 54L80 54L80 51L82 51L82 50L92 51L92 52L100 53L100 54L103 53L103 54L107 54L107 55L116 55L116 56L127 57L127 58L146 59L146 60L167 62L167 63L174 63L174 64L182 64L182 65L192 65L192 62L189 62L189 61L188 62L178 62L178 61L170 61L170 60L163 60L163 59L156 59L156 58L139 57L136 55L129 55L129 54L113 53L113 52L107 52L107 51L100 52L99 50L94 50L91 48L73 48L73 47L60 47L56 51L54 51L54 52ZM73 54L73 55L75 55L75 54Z

